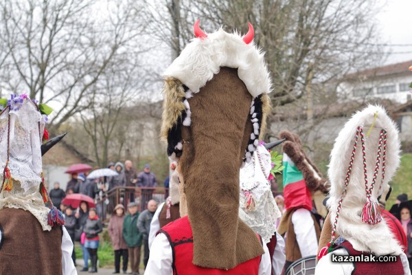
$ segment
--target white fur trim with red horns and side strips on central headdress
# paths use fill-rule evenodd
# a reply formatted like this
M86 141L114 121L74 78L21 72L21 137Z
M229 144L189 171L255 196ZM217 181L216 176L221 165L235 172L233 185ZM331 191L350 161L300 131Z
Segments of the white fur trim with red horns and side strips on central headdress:
M249 23L249 32L244 37L238 33L229 34L222 28L205 34L194 25L195 39L186 45L181 54L165 70L163 117L161 136L168 142L168 155L176 160L181 155L183 140L176 134L180 127L192 123L188 99L197 94L220 67L238 69L240 80L246 85L253 97L250 120L253 125L247 151L246 162L251 161L253 151L262 139L266 128L266 116L271 110L268 93L271 92L271 76L264 61L264 53L252 41L253 27ZM246 36L249 36L245 41ZM236 102L233 102L236 104Z

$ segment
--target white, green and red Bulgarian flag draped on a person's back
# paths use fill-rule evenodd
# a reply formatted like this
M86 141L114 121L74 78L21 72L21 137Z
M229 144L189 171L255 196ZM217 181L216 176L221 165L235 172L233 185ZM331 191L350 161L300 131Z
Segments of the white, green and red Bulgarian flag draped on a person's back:
M286 153L283 154L283 184L285 209L306 208L312 210L312 196L306 186L304 175Z

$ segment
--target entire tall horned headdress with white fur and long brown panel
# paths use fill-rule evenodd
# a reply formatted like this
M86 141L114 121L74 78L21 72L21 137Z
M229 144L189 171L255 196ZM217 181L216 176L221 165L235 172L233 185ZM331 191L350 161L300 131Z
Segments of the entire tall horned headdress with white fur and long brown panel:
M264 253L238 217L239 171L266 126L271 79L250 24L243 38L222 29L205 34L196 24L198 38L164 73L161 136L179 160L192 263L231 269Z

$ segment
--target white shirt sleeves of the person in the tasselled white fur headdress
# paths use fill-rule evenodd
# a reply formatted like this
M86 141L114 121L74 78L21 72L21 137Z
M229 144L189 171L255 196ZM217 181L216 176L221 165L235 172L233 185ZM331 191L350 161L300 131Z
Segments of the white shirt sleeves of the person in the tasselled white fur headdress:
M353 263L332 263L331 255L348 255L347 251L344 249L337 249L334 252L331 252L325 256L323 256L319 262L317 263L316 269L314 270L315 275L349 275L352 274L354 270ZM402 261L402 265L404 268L405 275L411 275L411 270L409 270L409 263L407 255L404 253L400 254L400 261Z

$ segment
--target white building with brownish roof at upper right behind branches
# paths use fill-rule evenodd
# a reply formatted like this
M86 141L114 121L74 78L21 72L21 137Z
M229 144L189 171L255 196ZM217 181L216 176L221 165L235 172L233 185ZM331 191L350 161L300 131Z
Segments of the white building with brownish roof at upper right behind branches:
M338 94L347 100L386 98L404 104L412 99L412 61L347 74Z

